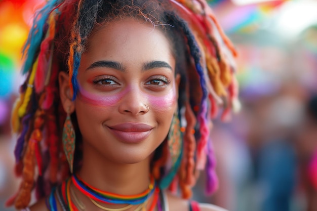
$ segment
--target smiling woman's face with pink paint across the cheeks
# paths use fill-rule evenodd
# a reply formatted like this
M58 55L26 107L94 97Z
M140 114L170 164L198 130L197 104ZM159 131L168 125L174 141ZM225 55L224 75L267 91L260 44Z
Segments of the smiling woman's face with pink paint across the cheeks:
M74 107L90 153L135 163L163 142L177 107L178 79L160 29L128 18L94 31L77 80Z

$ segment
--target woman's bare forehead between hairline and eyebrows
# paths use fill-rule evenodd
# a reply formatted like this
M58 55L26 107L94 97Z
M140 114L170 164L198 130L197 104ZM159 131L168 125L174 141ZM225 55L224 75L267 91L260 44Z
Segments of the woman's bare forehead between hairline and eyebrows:
M92 32L81 63L106 59L121 63L161 60L171 64L171 49L162 29L144 20L125 18Z

